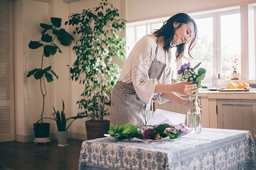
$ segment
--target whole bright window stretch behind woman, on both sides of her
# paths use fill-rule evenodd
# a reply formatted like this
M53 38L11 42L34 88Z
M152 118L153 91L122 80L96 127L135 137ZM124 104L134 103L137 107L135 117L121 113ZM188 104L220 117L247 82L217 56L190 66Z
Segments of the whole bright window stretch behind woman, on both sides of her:
M198 13L199 14L199 13ZM233 73L232 61L238 59L238 72L241 71L241 24L240 24L240 10L230 10L225 12L212 12L208 14L191 14L191 17L198 25L198 42L194 49L192 49L192 56L190 59L192 65L202 61L202 67L207 69L206 76L212 76L215 72L225 78L225 74ZM147 20L138 23L127 24L127 56L131 52L133 46L139 39L147 33L152 33L154 29L161 28L163 22L169 18L161 18L154 20ZM172 54L174 56L174 50ZM187 56L187 53L185 53ZM172 60L172 70L177 72L177 68L183 62ZM174 74L173 78L177 78Z

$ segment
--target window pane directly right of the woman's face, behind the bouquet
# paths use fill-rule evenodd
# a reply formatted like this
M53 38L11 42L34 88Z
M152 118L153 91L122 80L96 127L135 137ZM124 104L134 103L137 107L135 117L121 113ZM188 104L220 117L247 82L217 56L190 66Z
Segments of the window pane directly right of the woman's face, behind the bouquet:
M198 26L198 42L193 49L192 61L196 65L202 61L200 67L206 69L206 75L213 75L213 18L195 19Z

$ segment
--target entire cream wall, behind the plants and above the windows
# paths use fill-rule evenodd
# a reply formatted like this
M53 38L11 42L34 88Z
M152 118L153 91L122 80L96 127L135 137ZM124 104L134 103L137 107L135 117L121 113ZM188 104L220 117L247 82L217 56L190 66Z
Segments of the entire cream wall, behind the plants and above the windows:
M72 32L72 27L64 26L72 12L81 12L82 9L93 8L100 0L84 0L73 3L65 3L63 0L50 0L47 2L32 0L17 0L14 2L14 57L15 57L15 127L16 140L29 142L33 137L33 123L40 118L42 96L40 82L34 78L26 78L28 71L40 67L41 49L28 48L30 40L40 40L40 23L50 23L50 17L62 18L62 28ZM171 16L177 12L196 12L212 10L229 6L240 6L247 3L255 3L249 0L111 0L119 9L120 16L128 22L153 19L163 16ZM160 3L161 2L161 3ZM77 37L76 37L77 38ZM76 39L77 40L77 39ZM57 42L57 41L56 41ZM76 115L79 100L83 88L78 82L69 80L69 70L66 65L72 65L76 58L72 46L59 46L61 54L56 54L45 59L45 66L52 65L52 69L59 76L53 82L47 84L48 94L45 103L44 117L51 117L52 107L61 110L61 100L65 101L65 111L68 117ZM119 61L117 61L119 62ZM121 65L121 64L120 64ZM51 134L55 138L56 125L51 122ZM86 139L85 119L76 120L69 129L69 137Z

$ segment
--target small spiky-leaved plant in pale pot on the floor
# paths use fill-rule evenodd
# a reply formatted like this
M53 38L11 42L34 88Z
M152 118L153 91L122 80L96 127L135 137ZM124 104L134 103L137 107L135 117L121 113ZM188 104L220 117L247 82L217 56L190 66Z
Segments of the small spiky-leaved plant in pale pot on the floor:
M53 107L53 118L51 117L43 117L41 118L39 121L47 118L50 120L54 120L56 121L56 125L57 125L57 139L58 139L58 146L68 146L68 129L69 126L78 118L83 118L83 117L87 117L86 115L80 115L79 113L77 114L77 116L73 116L73 117L69 117L66 118L66 113L64 111L65 109L65 105L64 105L64 101L62 100L62 111L56 111L55 108ZM38 124L38 122L36 122L36 124ZM68 124L69 121L69 124Z

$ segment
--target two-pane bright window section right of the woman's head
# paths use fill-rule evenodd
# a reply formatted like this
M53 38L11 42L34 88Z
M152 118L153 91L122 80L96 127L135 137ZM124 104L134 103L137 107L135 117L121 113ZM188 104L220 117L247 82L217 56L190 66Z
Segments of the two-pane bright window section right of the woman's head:
M233 73L232 58L238 59L238 70L241 70L240 11L218 12L192 18L195 18L199 32L193 55L207 68L207 75L211 76L215 72L224 77Z

